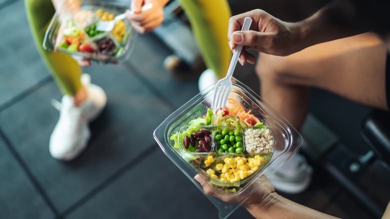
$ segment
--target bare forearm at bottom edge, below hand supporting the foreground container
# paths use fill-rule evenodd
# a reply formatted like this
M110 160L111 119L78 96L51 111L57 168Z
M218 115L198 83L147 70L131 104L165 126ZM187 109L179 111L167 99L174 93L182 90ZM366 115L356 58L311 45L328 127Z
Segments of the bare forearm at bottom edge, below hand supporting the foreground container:
M270 193L255 206L245 207L255 218L336 218Z

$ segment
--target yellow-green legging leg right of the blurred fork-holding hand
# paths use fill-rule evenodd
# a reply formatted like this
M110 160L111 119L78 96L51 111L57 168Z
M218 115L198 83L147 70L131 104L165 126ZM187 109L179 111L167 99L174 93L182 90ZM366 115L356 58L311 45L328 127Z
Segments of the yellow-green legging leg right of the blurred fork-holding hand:
M207 68L217 77L226 76L231 50L227 43L231 11L227 0L179 0L191 24Z

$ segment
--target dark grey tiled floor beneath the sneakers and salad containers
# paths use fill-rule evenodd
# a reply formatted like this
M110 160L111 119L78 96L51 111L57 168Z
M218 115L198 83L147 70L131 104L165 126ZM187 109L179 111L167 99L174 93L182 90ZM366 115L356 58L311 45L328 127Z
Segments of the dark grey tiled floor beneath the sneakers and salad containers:
M106 91L107 107L90 124L86 151L59 162L48 153L48 139L59 114L50 100L61 94L31 40L23 1L0 0L0 12L7 17L0 23L1 218L217 218L217 209L152 137L166 116L198 93L196 77L178 79L163 68L169 48L152 34L142 35L128 61L84 69ZM237 67L238 79L258 90L252 67ZM337 122L359 106L318 90L313 94L322 105L313 104L312 112L326 125L343 136L358 132L355 118L368 109ZM326 105L334 99L346 106L337 111ZM359 138L342 140L362 144ZM356 150L364 153L366 147ZM321 168L307 191L285 196L334 216L375 218ZM230 218L251 216L240 207Z

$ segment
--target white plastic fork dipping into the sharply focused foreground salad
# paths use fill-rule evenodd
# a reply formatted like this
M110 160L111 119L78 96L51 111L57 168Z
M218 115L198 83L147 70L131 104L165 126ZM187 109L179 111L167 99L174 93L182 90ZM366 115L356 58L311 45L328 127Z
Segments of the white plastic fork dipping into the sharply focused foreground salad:
M252 19L250 17L245 17L244 22L242 24L241 30L249 30L250 24L252 23ZM227 69L226 76L215 84L214 95L212 97L211 109L215 112L217 109L224 109L226 105L226 100L229 95L232 83L231 76L233 75L235 65L238 61L238 56L241 53L242 45L237 45L233 52L233 57L231 57L231 61L229 64L229 68Z

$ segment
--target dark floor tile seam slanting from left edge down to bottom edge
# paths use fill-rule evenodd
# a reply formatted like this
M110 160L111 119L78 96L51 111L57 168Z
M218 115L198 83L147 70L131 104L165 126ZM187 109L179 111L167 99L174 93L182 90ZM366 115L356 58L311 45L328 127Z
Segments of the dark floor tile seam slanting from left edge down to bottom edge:
M51 202L50 198L47 196L41 184L38 182L36 177L32 174L32 171L28 168L28 165L24 162L21 155L16 151L15 146L9 140L9 137L4 133L1 125L0 125L0 137L4 140L5 146L8 148L13 158L16 159L17 163L23 169L23 172L27 175L29 181L32 183L37 192L41 195L44 202L50 208L55 216L59 215L58 210L55 208L54 204Z

